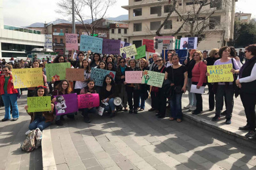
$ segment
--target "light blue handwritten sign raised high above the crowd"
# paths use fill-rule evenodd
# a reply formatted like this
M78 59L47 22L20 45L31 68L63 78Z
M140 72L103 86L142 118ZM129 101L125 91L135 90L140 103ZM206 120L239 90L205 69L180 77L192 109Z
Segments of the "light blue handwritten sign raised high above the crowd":
M98 37L81 35L80 38L80 51L91 50L94 53L102 53L103 40Z

